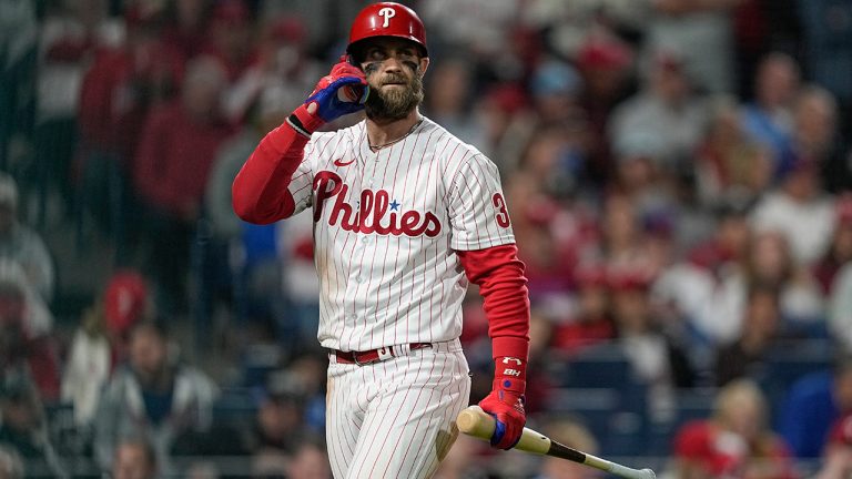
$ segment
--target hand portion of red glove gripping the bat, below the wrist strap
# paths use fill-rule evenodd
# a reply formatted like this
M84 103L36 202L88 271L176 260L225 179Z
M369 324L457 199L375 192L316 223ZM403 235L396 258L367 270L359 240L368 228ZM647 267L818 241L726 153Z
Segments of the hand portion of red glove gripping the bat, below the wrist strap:
M520 440L524 425L527 422L523 395L526 385L520 380L511 383L511 389L506 389L500 387L505 383L495 380L494 390L479 401L479 407L491 415L496 421L490 444L498 449L514 448Z

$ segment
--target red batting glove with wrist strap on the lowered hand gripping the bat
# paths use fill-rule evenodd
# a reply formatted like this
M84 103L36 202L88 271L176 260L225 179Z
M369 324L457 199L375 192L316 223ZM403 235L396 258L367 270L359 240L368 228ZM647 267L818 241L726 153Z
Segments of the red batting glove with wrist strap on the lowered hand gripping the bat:
M497 421L491 446L511 449L520 440L527 415L524 411L526 390L526 365L514 357L495 358L494 385L491 393L479 401L484 411Z

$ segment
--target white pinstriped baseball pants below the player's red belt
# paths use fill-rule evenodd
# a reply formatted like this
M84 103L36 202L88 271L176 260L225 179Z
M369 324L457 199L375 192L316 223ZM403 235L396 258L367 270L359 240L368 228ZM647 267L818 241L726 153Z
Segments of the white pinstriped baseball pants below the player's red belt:
M430 478L469 396L458 340L365 366L331 355L325 430L334 477Z

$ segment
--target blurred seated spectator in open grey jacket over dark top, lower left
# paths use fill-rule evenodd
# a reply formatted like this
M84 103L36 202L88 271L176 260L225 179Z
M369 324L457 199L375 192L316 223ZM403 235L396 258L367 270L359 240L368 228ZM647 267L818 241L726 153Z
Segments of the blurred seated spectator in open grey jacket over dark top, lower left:
M171 473L171 448L183 434L206 430L216 387L169 350L162 323L143 322L130 333L129 361L116 370L101 397L95 417L95 459L113 465L116 446L143 437L156 450L162 473Z

